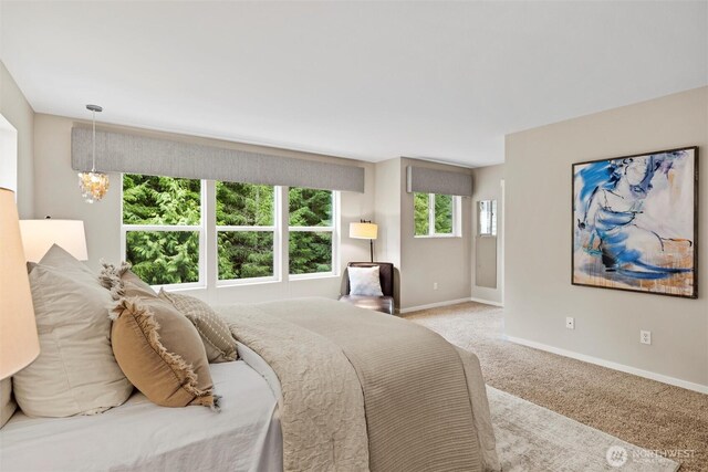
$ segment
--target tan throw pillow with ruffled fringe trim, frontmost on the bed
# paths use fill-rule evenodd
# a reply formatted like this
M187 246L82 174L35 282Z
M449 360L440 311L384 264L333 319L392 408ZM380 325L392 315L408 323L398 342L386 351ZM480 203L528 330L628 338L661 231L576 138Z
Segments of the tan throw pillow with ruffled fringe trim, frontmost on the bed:
M164 407L202 405L218 397L197 329L160 298L124 298L114 310L113 353L127 378Z

